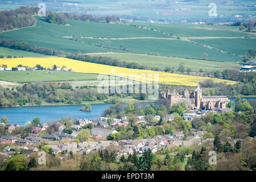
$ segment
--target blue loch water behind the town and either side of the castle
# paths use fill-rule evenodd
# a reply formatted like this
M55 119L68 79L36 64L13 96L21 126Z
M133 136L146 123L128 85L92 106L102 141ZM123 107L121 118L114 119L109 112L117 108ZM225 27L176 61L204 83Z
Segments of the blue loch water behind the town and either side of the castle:
M230 101L236 98L229 98ZM246 100L256 99L256 97L246 98ZM151 103L140 103L139 105L150 105ZM103 111L113 104L92 104L91 111L80 111L83 105L67 106L26 106L26 107L9 107L0 109L0 117L6 115L9 123L24 125L35 117L39 117L41 122L56 121L62 117L70 116L71 118L97 118L101 117ZM123 104L125 105L125 104Z

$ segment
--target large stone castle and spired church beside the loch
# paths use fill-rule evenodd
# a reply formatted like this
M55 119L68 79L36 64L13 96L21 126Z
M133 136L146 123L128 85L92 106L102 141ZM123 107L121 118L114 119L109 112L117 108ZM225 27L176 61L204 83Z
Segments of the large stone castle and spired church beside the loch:
M167 90L160 93L160 98L168 98L171 106L183 102L185 106L196 110L200 108L209 110L225 109L229 102L229 98L226 96L202 96L199 84L197 84L197 88L193 92L189 93L188 89L185 89L183 94L179 94L175 89L172 93Z

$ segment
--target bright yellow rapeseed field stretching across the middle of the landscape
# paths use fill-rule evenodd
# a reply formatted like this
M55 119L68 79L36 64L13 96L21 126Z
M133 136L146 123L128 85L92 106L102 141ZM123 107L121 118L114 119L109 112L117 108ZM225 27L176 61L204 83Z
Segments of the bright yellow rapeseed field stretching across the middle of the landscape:
M158 73L160 84L169 84L169 85L187 85L187 86L196 86L197 82L203 80L214 80L215 82L226 82L226 84L235 84L234 81L221 80L217 78L207 78L200 76L188 76L180 75L175 73L166 73L166 72L156 72L143 69L129 69L121 67L113 67L109 65L88 63L84 61L67 59L64 57L24 57L24 58L10 58L10 59L0 59L0 65L6 64L8 68L17 67L19 64L28 67L35 67L36 64L40 64L44 68L52 68L53 65L62 67L65 65L68 69L73 69L73 72L80 73L97 73L102 75L115 75L125 77L129 76L129 73L144 73L144 76L147 74L152 74L152 79L154 80L154 73ZM123 74L123 75L119 75ZM150 74L150 75L151 75ZM143 75L142 75L143 76ZM133 78L136 81L142 81L139 77ZM151 81L150 79L147 80Z

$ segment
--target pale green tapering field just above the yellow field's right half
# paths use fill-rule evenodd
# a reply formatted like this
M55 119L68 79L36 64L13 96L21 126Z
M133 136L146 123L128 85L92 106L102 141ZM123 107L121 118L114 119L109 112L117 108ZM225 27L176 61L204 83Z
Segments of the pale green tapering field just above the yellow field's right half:
M92 54L93 55L93 54ZM238 69L241 67L240 64L236 63L225 63L218 61L205 61L205 60L194 60L194 59L184 59L176 57L164 57L164 56L151 56L151 55L139 55L131 53L101 53L94 54L94 56L106 56L113 57L114 59L140 63L150 67L159 67L164 69L167 66L174 67L175 70L179 67L179 64L184 63L184 67L191 68L192 71L214 71L222 69ZM200 63L200 64L199 64Z

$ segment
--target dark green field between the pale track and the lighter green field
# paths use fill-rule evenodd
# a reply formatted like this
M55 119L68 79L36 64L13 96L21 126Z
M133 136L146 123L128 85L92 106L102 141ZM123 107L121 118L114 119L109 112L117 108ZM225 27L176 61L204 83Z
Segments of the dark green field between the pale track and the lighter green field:
M102 40L86 39L81 40L100 44ZM112 40L110 48L113 52L118 50L120 45L126 46L126 51L133 53L146 53L161 56L185 57L193 59L203 59L204 53L208 54L208 60L217 61L240 61L239 56L229 55L216 50L187 42L185 40L160 40L160 39L129 39ZM112 49L109 49L109 52Z

